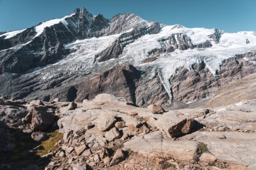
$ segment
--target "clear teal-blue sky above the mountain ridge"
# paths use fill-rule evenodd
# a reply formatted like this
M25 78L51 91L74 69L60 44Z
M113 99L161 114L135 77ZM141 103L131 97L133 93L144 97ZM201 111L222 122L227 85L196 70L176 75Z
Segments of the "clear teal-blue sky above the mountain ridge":
M108 19L133 13L167 25L256 31L256 0L0 0L0 32L63 18L80 7Z

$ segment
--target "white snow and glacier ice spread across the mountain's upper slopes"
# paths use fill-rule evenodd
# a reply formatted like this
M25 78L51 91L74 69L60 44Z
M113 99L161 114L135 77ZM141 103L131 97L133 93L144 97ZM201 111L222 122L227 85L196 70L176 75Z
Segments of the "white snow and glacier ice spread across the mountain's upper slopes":
M64 20L48 21L48 23L42 24L42 28L40 27L38 32L42 31L44 27L56 22L64 22ZM138 18L137 22L147 24ZM131 28L124 29L123 31L130 31L130 29ZM153 49L162 48L159 40L166 39L176 33L187 35L194 45L210 41L213 46L211 48L175 50L175 52L172 53L160 54L153 62L142 63L142 60L148 57L148 52ZM41 69L42 72L40 71L40 74L44 75L45 79L48 79L63 72L75 74L80 71L90 70L94 73L96 70L95 73L97 73L97 70L102 68L109 69L115 65L133 64L137 66L138 69L147 71L148 78L152 78L155 71L157 71L164 88L171 96L171 84L169 79L178 67L183 66L187 69L191 69L193 63L204 61L210 72L215 75L216 70L220 69L220 64L224 59L232 58L235 57L236 54L242 54L256 49L255 32L223 33L219 43L214 42L208 37L208 35L213 33L214 29L186 28L181 25L164 26L160 33L144 35L126 45L119 58L110 59L109 61L101 63L97 62L95 55L108 48L121 34L77 40L65 45L67 49L77 49L75 53L69 54L54 65L47 66L47 69ZM130 37L124 37L123 39L126 40L129 38ZM250 44L246 44L246 39L250 41Z

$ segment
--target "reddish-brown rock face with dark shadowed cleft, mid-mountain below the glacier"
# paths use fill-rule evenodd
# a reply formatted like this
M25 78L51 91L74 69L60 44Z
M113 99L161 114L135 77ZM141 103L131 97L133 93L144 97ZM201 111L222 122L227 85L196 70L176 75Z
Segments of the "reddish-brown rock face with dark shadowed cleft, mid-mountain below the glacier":
M93 99L101 93L113 94L117 97L125 97L135 103L135 82L141 77L141 71L134 66L114 67L93 79L77 84L76 101Z

